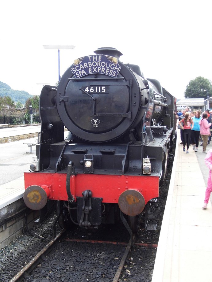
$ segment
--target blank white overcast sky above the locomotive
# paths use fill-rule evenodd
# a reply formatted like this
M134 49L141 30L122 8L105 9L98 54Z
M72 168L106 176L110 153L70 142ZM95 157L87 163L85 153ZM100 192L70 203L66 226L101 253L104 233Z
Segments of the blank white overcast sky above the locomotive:
M0 81L39 95L76 58L99 47L121 51L120 61L140 66L176 98L190 80L212 80L211 5L208 0L7 0L0 2Z

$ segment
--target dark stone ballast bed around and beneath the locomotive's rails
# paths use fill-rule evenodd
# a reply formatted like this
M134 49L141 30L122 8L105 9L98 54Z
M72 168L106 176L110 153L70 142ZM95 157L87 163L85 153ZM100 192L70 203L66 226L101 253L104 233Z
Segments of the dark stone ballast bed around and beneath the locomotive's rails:
M168 171L168 176L171 176L171 168ZM137 240L130 247L130 253L125 260L119 282L150 282L152 280L168 187L169 178L161 187L163 193L158 198L157 204L152 206L150 217L156 219L158 223L156 232L145 232L144 224L141 223ZM49 238L50 241L54 220L55 214L53 213L44 224L35 224L32 231L37 236ZM25 275L22 275L23 281L112 282L127 247L129 233L125 227L117 225L106 224L101 229L101 232L100 229L98 232L91 232L79 228L79 231L67 233L68 236L65 236L63 240L59 239L60 242L54 248L53 255L51 255L52 252L48 255L42 254L42 260L45 259L43 262L45 264L49 262L48 266L45 266L46 270L42 270L42 264L36 266L34 263L32 276L27 277L29 270L25 271ZM56 232L60 231L61 229L57 227ZM42 240L27 234L26 230L20 238L0 250L0 282L9 282L16 275L17 269L20 272L20 269L23 269L28 261L32 260L35 254L45 246L46 243L41 242ZM33 252L32 258L30 257L31 252ZM33 280L32 277L34 277Z

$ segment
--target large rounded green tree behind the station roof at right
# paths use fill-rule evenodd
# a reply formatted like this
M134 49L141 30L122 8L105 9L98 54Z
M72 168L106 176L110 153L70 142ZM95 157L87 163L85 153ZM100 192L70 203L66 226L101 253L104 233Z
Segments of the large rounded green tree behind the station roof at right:
M211 81L202 76L196 77L191 80L184 92L185 98L207 98L212 96Z

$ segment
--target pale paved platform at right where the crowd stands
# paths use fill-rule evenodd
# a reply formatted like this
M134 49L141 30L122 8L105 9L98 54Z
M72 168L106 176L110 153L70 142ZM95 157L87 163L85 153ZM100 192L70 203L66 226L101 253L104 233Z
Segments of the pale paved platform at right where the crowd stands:
M209 169L202 146L183 152L177 129L177 146L171 182L156 253L152 282L212 281L211 195L205 197ZM207 145L207 151L211 144Z

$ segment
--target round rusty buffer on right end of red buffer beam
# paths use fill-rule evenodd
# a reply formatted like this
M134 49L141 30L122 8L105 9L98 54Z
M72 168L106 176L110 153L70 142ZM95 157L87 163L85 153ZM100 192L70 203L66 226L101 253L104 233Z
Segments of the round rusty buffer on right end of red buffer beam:
M126 190L118 199L118 206L122 213L129 216L140 214L145 208L145 199L137 190Z

